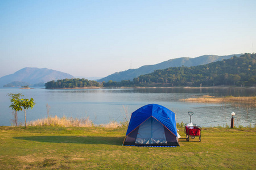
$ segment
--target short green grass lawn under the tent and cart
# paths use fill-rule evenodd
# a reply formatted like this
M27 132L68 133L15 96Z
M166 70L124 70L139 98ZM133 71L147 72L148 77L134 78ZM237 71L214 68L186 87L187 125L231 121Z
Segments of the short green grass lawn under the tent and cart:
M180 147L122 146L126 128L0 126L0 169L255 169L256 128L203 128Z

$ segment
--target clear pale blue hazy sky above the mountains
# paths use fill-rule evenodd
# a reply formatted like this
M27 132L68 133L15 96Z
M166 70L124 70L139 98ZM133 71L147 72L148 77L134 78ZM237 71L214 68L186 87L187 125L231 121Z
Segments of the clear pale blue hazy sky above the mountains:
M0 0L0 77L23 67L108 76L256 51L256 1Z

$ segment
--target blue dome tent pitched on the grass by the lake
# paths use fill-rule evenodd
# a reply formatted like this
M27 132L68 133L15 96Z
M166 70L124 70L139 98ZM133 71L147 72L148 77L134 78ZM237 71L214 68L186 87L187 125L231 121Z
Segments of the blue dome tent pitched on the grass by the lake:
M158 104L148 104L131 113L123 145L179 146L175 113Z

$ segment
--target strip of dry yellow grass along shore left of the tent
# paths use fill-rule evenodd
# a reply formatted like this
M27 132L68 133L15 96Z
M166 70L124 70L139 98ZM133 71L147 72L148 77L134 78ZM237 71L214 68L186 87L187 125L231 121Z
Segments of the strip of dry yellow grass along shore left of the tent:
M86 118L67 118L63 117L51 117L49 118L40 118L36 121L31 121L28 123L29 126L60 126L60 127L93 127L100 126L104 128L118 128L122 126L118 122L111 121L109 124L93 125L93 122L89 120L89 117Z

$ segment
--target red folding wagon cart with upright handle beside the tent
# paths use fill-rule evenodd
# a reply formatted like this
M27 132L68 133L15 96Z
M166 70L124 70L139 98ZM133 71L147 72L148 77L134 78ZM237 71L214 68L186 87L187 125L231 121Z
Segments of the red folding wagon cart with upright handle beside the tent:
M193 112L188 112L188 115L190 116L190 123L185 124L184 133L186 134L186 140L189 142L189 137L191 139L195 139L195 137L199 137L199 142L201 142L201 131L202 128L200 126L197 126L196 124L192 124L191 122L191 116L193 115Z

